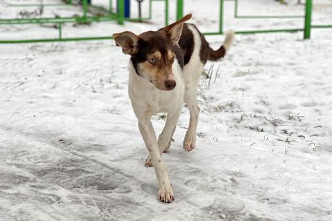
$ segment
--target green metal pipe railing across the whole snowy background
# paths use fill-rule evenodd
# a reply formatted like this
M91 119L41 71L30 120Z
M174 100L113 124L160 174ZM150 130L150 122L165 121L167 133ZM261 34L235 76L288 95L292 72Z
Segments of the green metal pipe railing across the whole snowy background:
M53 17L53 18L21 18L21 19L0 19L0 25L15 25L15 24L42 24L55 23L58 28L58 37L53 39L18 39L18 40L0 40L0 44L5 43L33 43L33 42L50 42L50 41L87 41L87 40L103 40L112 39L112 36L101 37L63 37L64 23L91 23L101 21L117 21L122 25L124 21L145 21L152 18L152 3L153 1L165 2L165 24L169 23L169 0L149 0L149 15L143 18L125 18L124 17L124 0L118 0L118 11L113 12L112 0L109 0L109 9L98 6L91 6L87 0L82 1L82 15L75 17ZM219 0L219 30L216 32L205 32L204 35L222 35L224 23L224 2L234 1L234 18L235 19L304 19L303 28L283 28L283 29L268 29L268 30L237 30L237 34L254 34L254 33L273 33L273 32L304 32L304 39L309 39L311 36L311 28L332 28L332 25L315 25L311 23L312 0L306 0L304 15L239 15L239 0ZM176 18L181 19L184 15L184 0L176 0ZM11 7L30 7L41 6L41 4L15 4ZM58 6L73 6L71 0L66 3L48 3L43 4L46 7ZM89 16L89 9L94 8L103 12L104 15Z

